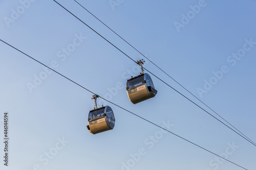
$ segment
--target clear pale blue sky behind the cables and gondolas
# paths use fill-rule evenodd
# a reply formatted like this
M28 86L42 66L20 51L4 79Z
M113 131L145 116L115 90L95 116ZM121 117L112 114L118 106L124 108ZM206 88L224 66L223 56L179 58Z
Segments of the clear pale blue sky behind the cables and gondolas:
M58 2L134 60L143 58L75 1ZM246 39L256 42L256 1L205 0L180 29L175 23L182 23L183 15L191 14L190 6L201 1L112 1L116 6L109 1L78 2L256 142L256 44L236 63L228 62L232 53L242 52ZM153 75L155 98L132 104L125 84L139 74L138 66L54 1L2 0L0 11L0 39L46 65L54 63L56 71L103 98L159 126L172 124L173 133L255 169L254 145ZM15 16L15 11L20 14ZM7 22L7 17L13 20ZM77 36L83 37L80 43ZM72 49L74 40L79 45ZM71 51L65 54L68 47ZM3 42L0 49L2 138L4 112L10 117L9 166L1 160L1 169L242 169L218 162L215 155L102 100L100 105L114 111L115 128L93 135L86 127L94 105L92 93L55 72L45 74L42 65ZM217 116L148 60L144 66ZM228 72L213 78L212 71L222 66ZM45 80L29 89L28 84L40 76ZM210 80L217 82L201 98L197 89ZM63 139L66 142L59 143ZM0 155L4 155L1 143ZM231 150L230 144L236 148ZM47 153L52 153L51 159Z

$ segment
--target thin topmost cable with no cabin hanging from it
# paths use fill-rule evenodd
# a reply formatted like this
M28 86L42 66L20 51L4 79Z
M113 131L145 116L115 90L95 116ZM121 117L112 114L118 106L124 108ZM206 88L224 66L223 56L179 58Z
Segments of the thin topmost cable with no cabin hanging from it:
M211 109L208 105L206 105L202 100L200 100L196 95L194 95L193 93L191 93L188 89L186 89L184 86L182 86L178 81L176 81L173 77L171 77L170 75L168 75L163 69L161 69L158 65L156 65L154 62L152 62L150 59L148 59L146 56L144 56L139 50L137 50L137 48L135 48L132 44L130 44L129 42L127 42L124 38L122 38L119 34L117 34L114 30L112 30L110 27L108 27L104 22L102 22L98 17L96 17L94 14L92 14L89 10L87 10L85 7L83 7L80 3L78 3L76 0L74 0L78 5L80 5L84 10L86 10L87 12L89 12L92 16L94 16L97 20L99 20L105 27L107 27L109 30L111 30L113 33L115 33L119 38L121 38L124 42L126 42L127 44L129 44L132 48L134 48L135 51L137 51L139 54L141 54L143 57L145 57L148 61L150 61L152 64L154 64L157 68L159 68L162 72L164 72L165 75L167 75L170 79L174 80L177 84L179 84L183 89L185 89L188 93L190 93L191 95L193 95L198 101L200 101L203 105L205 105L207 108L209 108L212 112L216 113L218 116L220 116L227 124L229 124L232 128L236 129L238 132L240 132L244 137L246 137L248 140L250 140L251 142L253 142L249 137L247 137L244 133L242 133L240 130L238 130L236 127L234 127L233 125L231 125L225 118L223 118L220 114L218 114L216 111L214 111L213 109ZM256 144L255 142L253 142L254 144Z

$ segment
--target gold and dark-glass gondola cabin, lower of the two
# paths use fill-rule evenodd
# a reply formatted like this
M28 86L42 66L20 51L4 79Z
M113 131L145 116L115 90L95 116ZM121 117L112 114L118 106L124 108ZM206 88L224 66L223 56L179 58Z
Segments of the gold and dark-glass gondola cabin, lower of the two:
M109 106L91 110L88 116L88 130L92 134L112 130L115 126L115 116Z

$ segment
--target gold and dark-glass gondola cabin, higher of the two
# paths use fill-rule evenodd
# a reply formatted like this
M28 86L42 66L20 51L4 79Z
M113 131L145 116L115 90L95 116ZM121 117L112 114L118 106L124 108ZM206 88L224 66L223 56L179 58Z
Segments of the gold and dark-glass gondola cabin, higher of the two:
M133 104L154 98L157 94L150 75L146 73L127 80L126 91Z

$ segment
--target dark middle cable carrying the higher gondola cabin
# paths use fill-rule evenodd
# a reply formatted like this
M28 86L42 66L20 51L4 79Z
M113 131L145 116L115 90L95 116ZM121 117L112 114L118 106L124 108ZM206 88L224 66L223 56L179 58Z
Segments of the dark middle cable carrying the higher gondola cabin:
M53 0L54 2L56 2L55 0ZM101 38L103 38L104 40L106 40L107 42L109 42L111 45L113 45L118 51L120 51L122 54L124 54L126 57L128 57L129 59L131 59L132 61L134 61L136 64L137 62L132 59L130 56L128 56L127 54L125 54L123 51L121 51L117 46L115 46L113 43L111 43L108 39L104 38L101 34L99 34L97 31L95 31L93 28L91 28L90 26L88 26L85 22L83 22L80 18L78 18L76 15L74 15L72 12L70 12L69 10L67 10L65 7L63 7L62 5L60 5L58 2L56 2L60 7L62 7L63 9L65 9L67 12L69 12L71 15L73 15L75 18L77 18L79 21L81 21L84 25L86 25L88 28L90 28L92 31L94 31L96 34L98 34ZM145 70L147 70L146 68L144 68ZM148 71L148 70L147 70ZM148 71L150 72L150 71ZM184 98L186 98L187 100L189 100L191 103L195 104L196 106L198 106L200 109L202 109L203 111L205 111L206 113L208 113L210 116L214 117L215 119L217 119L220 123L222 123L223 125L225 125L226 127L228 127L230 130L232 130L233 132L237 133L238 135L240 135L241 137L243 137L245 140L249 141L251 144L253 144L254 146L256 146L256 144L254 142L251 142L250 140L248 140L247 138L245 138L244 136L242 136L240 133L238 133L237 131L233 130L232 128L230 128L229 126L227 126L225 123L223 123L220 119L218 119L217 117L215 117L214 115L210 114L208 111L206 111L205 109L203 109L202 107L200 107L199 105L197 105L195 102L191 101L190 99L188 99L184 94L182 94L181 92L179 92L178 90L176 90L175 88L173 88L172 86L170 86L169 84L167 84L166 82L164 82L163 80L161 80L160 78L158 78L156 75L154 75L152 72L150 72L153 76L155 76L157 79L159 79L160 81L162 81L164 84L166 84L167 86L169 86L170 88L174 89L176 92L178 92L179 94L181 94L182 96L184 96Z

